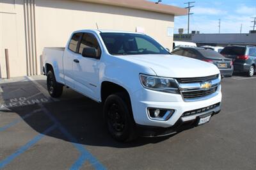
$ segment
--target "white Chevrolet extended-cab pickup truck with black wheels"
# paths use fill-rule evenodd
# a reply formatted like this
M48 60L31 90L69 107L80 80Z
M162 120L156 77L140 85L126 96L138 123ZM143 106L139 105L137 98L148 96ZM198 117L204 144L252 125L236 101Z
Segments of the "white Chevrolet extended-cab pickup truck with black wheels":
M75 31L65 48L45 48L42 57L51 97L68 86L101 102L118 141L173 134L220 112L218 68L172 55L145 34Z

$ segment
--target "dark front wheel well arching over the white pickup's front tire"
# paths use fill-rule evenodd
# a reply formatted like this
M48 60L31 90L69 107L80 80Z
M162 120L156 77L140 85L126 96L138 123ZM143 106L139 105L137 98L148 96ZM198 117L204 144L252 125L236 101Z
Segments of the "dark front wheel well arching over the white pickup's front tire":
M105 102L106 98L108 98L109 95L114 93L120 93L120 92L124 92L129 98L129 102L131 102L128 91L122 86L119 86L118 84L115 84L113 82L108 82L108 81L102 82L100 92L101 92L100 94L101 94L102 103Z

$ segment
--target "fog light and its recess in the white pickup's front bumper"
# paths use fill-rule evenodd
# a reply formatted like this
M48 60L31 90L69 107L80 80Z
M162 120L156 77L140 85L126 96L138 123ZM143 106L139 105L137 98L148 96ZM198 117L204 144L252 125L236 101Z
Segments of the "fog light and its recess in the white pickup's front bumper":
M174 113L173 109L148 108L148 116L152 120L168 120Z

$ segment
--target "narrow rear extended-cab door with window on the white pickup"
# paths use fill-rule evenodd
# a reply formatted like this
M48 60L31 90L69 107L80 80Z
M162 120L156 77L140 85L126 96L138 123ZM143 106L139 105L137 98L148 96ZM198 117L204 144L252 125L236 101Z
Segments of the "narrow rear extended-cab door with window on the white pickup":
M78 43L82 38L83 33L74 33L68 43L63 55L63 70L65 84L70 88L74 88L74 55L78 51Z

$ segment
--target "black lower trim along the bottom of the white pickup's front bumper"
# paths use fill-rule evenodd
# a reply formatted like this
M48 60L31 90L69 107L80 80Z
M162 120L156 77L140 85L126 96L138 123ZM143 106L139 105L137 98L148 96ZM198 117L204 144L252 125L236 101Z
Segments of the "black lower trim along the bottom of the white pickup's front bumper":
M211 115L214 116L220 112L220 107L216 108L214 111L205 112L202 115ZM186 121L183 118L179 118L179 120L172 127L163 128L163 127L153 127L153 126L145 126L145 125L136 125L136 130L141 137L160 137L166 135L172 135L181 132L182 130L186 130L189 128L196 127L198 123L198 119Z

